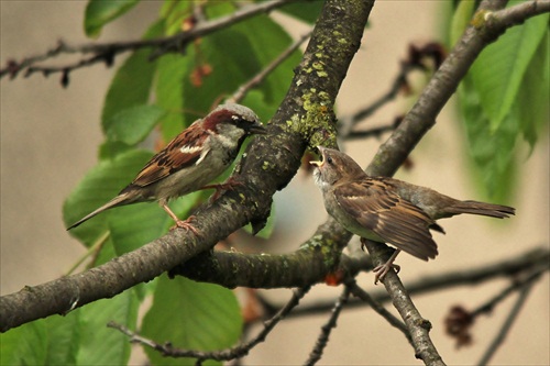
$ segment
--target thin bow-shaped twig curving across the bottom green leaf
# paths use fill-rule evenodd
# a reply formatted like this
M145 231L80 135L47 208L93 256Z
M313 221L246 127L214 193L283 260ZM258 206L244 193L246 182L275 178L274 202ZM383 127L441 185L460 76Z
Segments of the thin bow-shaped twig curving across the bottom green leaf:
M163 356L169 357L193 357L197 358L197 364L201 364L206 359L213 361L230 361L243 357L249 354L249 352L258 343L265 341L267 334L275 328L275 325L282 321L296 306L298 306L299 301L304 298L304 296L309 291L311 287L307 286L300 289L296 289L293 291L293 297L270 320L264 322L264 329L252 340L245 342L241 345L238 345L232 348L215 351L215 352L202 352L202 351L191 351L191 350L182 350L174 347L170 343L160 344L150 339L143 337L136 334L133 331L130 331L128 328L118 324L116 322L109 322L107 326L119 330L130 337L130 342L140 343L152 347L153 350L158 351L163 354Z

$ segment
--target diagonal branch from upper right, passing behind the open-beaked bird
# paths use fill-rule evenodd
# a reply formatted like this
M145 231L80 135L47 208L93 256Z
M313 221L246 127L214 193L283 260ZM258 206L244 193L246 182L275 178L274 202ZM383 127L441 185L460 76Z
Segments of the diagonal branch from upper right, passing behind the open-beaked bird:
M498 7L504 7L504 2L483 1L477 14L484 12L488 14L487 11L498 9ZM537 9L537 7L528 9L532 8ZM367 174L371 176L392 176L396 171L399 164L405 160L420 137L436 123L436 117L457 90L459 82L481 51L495 41L507 26L517 23L517 18L514 18L514 22L512 22L508 19L510 15L507 15L507 13L495 11L491 14L491 16L484 16L485 20L491 20L491 22L487 21L466 29L399 127L380 147L373 163L366 169ZM532 16L536 12L528 13L526 11L524 14L526 14L525 16ZM388 259L387 252L381 248L385 246L384 244L370 241L365 241L365 243L375 265L384 264ZM409 329L416 355L422 358L426 365L443 365L443 361L428 334L431 324L420 317L403 284L393 270L386 275L384 286Z

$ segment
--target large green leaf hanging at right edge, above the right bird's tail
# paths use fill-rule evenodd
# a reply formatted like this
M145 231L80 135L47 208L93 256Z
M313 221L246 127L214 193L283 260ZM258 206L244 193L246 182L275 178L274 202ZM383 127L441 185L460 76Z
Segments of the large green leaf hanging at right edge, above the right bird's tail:
M516 138L531 148L548 123L548 20L535 16L485 49L459 88L471 155L494 200L508 201L516 182Z

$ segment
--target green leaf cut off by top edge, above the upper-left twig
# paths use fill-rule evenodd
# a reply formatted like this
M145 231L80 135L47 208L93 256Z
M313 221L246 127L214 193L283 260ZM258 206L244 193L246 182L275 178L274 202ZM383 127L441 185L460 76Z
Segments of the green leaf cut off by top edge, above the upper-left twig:
M97 38L103 25L135 7L140 0L89 0L84 15L86 35Z

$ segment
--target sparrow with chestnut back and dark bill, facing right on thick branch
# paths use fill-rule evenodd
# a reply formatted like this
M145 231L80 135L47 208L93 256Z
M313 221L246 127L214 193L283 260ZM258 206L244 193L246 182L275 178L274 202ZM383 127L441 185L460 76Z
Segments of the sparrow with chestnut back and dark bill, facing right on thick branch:
M195 121L158 152L135 179L112 200L75 222L67 230L118 206L158 201L161 207L176 222L176 225L197 230L190 218L179 220L168 208L168 200L202 188L235 159L244 138L251 134L265 134L266 130L257 115L240 104L221 104L204 119ZM228 188L232 184L219 185Z

